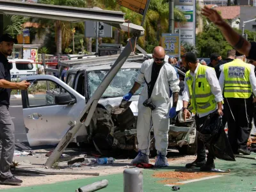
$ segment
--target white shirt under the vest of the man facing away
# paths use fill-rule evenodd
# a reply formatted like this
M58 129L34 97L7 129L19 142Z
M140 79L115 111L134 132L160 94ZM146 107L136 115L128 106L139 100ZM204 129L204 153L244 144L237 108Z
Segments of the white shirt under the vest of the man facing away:
M239 60L239 59L236 59L236 60ZM236 61L234 60L234 61ZM244 63L242 60L240 60L241 63ZM247 63L246 63L247 64ZM225 65L225 64L223 64ZM223 72L223 65L221 65L220 67L220 70L221 70L221 74L220 74L220 87L221 87L221 92L223 92L224 90L224 84L225 84L225 76L224 76L224 72ZM250 84L251 84L251 88L252 88L252 92L254 95L256 95L256 77L255 77L255 74L254 74L254 65L252 64L248 64L250 65L251 67L251 71L250 71L250 76L249 76L249 79L250 79Z

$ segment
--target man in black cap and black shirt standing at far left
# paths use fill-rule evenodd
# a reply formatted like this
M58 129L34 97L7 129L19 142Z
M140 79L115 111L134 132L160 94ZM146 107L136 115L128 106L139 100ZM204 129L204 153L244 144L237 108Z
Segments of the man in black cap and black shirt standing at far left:
M9 113L10 94L12 89L26 90L30 83L11 82L10 69L7 57L12 56L13 44L17 43L15 38L4 34L0 38L0 184L16 185L22 183L10 172L15 148L14 125Z

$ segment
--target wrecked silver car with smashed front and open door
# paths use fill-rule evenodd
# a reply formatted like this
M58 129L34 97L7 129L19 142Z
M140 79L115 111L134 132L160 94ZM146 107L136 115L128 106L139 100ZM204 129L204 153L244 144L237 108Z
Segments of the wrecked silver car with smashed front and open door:
M73 142L94 143L99 150L110 150L111 148L137 150L136 123L121 130L111 116L111 109L118 106L123 95L131 90L142 63L143 60L124 63L99 100L90 126L84 127L83 125L72 140ZM41 104L37 100L35 105L28 97L28 91L22 92L24 123L29 145L55 145L58 143L70 128L68 122L76 120L110 68L109 64L83 65L81 63L74 68L69 68L65 83L54 76L26 77L26 81L33 82L31 89L33 86L42 86L42 84L46 84L45 88L47 86L42 95L44 101ZM177 70L180 76L184 76L184 72L179 68ZM180 85L184 88L182 83L181 81ZM131 99L130 108L135 118L138 116L138 99L142 89L143 86ZM181 92L182 90L180 90L177 104L177 114L182 109ZM56 103L56 100L59 100L56 97L62 94L69 94L74 102L70 104L65 101ZM173 102L172 97L170 102ZM190 132L184 146L178 147L191 126L194 127L193 131ZM154 150L153 132L151 138L151 150ZM194 116L186 122L180 121L177 117L170 120L169 146L177 147L182 154L195 154Z

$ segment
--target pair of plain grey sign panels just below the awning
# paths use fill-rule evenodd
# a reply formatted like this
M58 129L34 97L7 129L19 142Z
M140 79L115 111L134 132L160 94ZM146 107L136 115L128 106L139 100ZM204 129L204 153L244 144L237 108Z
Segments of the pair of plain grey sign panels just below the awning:
M86 20L84 22L85 37L96 37L97 22ZM112 37L112 27L103 22L99 22L99 37Z

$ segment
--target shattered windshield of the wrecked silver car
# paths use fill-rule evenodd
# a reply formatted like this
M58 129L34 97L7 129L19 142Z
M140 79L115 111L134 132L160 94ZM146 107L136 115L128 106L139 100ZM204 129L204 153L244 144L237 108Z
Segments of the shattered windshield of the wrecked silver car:
M102 98L123 97L131 90L139 72L139 68L119 70L106 91L103 93ZM87 73L90 97L92 97L92 94L98 88L107 73L108 70L94 70ZM140 89L134 95L140 95L142 89L143 85L141 85Z

